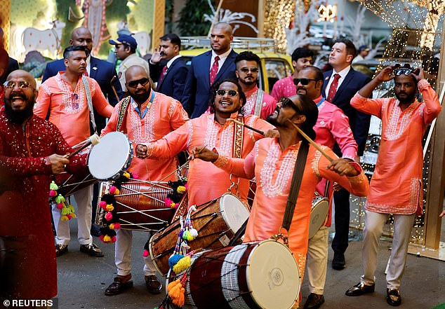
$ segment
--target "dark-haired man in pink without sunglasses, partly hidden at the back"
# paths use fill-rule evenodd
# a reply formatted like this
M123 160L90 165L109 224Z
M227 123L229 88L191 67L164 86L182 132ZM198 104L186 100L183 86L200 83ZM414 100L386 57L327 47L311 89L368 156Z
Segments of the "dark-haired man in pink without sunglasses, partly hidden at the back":
M272 88L272 92L270 92L270 95L272 95L272 97L277 100L279 100L281 97L291 97L291 95L296 95L297 89L293 84L293 78L296 78L298 76L298 72L300 72L303 67L307 67L312 64L313 56L314 52L307 48L299 47L293 50L293 74L277 81L277 83L274 84L274 88Z

